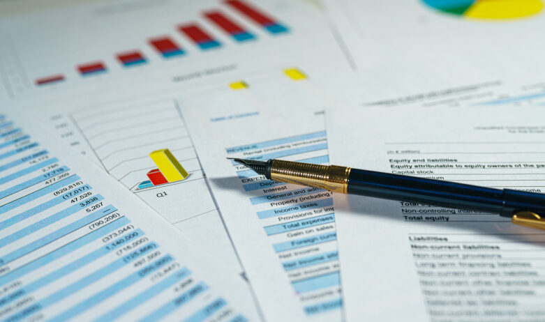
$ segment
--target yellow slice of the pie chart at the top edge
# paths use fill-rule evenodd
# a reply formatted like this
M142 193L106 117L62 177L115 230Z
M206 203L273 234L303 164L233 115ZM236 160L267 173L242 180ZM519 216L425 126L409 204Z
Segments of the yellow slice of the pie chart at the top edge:
M535 15L542 0L477 0L463 13L472 19L514 19Z

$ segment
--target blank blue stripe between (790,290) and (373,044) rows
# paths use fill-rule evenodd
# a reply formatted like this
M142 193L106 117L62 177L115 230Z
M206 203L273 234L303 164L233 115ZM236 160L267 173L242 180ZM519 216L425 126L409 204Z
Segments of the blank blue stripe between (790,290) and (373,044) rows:
M73 240L70 243L63 245L62 247L57 248L57 250L54 250L53 252L50 252L49 254L46 254L34 261L31 261L30 263L27 263L27 265L22 266L21 268L17 268L16 270L12 270L10 273L3 275L2 277L0 277L0 285L4 285L9 282L12 282L13 280L27 273L30 273L33 270L37 270L38 268L45 266L48 263L51 263L52 261L60 259L62 256L66 254L70 254L71 252L74 252L75 250L79 250L80 247L83 247L89 243L92 243L97 238L100 238L104 236L105 234L110 233L110 231L118 229L119 227L123 226L124 224L128 224L129 222L130 220L128 220L127 217L121 217L118 220L114 220L113 222L110 222L110 224L107 224L103 227L100 227L99 229L96 229L96 231L93 231L91 233L88 233L85 236L82 236L76 240Z

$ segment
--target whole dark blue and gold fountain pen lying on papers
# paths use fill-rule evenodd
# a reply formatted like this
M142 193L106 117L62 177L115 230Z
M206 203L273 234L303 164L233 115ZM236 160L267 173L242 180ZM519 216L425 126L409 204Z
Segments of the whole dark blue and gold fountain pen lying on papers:
M343 194L477 210L510 217L512 223L545 229L545 194L493 189L401 174L271 159L230 158L269 180Z

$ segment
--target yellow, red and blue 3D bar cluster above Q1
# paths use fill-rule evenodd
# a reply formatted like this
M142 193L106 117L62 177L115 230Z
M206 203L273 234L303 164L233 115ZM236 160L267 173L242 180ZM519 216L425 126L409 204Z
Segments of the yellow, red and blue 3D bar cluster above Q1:
M158 169L152 169L146 175L149 180L138 184L138 189L163 185L184 180L189 176L188 172L174 158L174 155L167 149L157 150L149 153Z

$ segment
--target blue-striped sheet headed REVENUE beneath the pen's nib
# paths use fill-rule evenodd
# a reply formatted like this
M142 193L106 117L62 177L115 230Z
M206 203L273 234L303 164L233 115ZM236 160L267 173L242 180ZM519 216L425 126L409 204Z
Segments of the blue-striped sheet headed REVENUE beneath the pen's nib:
M285 82L300 91L288 77ZM269 181L226 159L328 163L322 115L287 120L277 102L286 92L261 85L180 100L184 119L266 319L341 321L331 192ZM320 97L296 96L290 95L290 107L323 109Z

